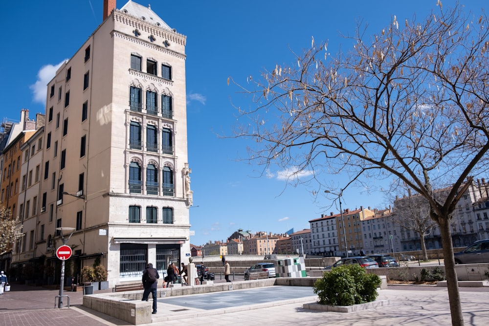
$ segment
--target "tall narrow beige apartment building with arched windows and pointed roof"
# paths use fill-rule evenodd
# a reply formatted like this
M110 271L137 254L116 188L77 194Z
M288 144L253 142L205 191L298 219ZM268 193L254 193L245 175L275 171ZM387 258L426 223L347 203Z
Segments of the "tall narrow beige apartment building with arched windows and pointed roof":
M188 263L192 205L186 37L150 6L115 6L104 1L104 21L47 85L44 229L32 253L58 267L61 232L70 234L59 228L73 228L66 276L100 260L109 286L139 282L147 262L161 273Z

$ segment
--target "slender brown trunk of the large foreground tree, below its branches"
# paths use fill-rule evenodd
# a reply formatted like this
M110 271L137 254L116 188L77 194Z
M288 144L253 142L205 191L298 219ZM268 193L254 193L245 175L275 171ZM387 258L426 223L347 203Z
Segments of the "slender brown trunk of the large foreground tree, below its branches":
M450 219L448 217L440 218L440 222L445 261L445 277L448 288L448 302L450 304L452 325L462 326L464 325L464 317L462 315L462 304L460 304L457 273L455 272L455 259L453 256L453 245L450 234Z

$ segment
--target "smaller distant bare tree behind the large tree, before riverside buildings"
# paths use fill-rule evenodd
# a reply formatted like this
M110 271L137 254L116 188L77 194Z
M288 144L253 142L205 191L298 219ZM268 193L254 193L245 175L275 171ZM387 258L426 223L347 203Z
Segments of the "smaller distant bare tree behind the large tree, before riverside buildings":
M428 253L424 237L429 235L436 226L435 221L431 219L430 211L428 201L421 195L411 196L409 192L408 196L397 198L394 201L394 222L420 235L421 251L425 261L428 260Z

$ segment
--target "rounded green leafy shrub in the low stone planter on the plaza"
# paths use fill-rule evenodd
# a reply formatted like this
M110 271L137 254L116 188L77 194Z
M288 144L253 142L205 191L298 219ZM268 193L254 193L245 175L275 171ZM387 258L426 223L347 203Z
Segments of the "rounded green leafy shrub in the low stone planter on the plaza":
M313 285L320 304L353 305L374 301L380 278L358 264L333 268Z

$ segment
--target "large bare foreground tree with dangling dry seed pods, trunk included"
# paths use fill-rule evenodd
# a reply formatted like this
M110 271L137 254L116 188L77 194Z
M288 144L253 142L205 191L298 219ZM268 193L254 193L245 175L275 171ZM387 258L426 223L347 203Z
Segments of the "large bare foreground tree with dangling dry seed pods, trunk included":
M236 137L257 142L249 158L297 173L348 175L342 190L381 178L424 197L440 227L453 325L464 323L450 214L488 159L487 16L461 6L417 22L396 16L371 38L360 25L354 46L334 57L327 43L251 79L249 109ZM289 169L292 170L292 169ZM324 179L322 179L324 178ZM375 179L374 179L375 178ZM451 187L440 200L434 189Z

